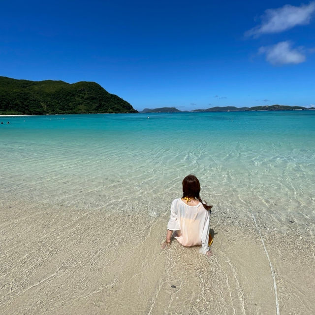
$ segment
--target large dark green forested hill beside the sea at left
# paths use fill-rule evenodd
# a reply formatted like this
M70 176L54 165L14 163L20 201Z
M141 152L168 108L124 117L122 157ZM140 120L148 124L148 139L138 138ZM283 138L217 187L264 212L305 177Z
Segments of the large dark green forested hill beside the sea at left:
M0 76L0 114L136 113L95 82L16 80Z

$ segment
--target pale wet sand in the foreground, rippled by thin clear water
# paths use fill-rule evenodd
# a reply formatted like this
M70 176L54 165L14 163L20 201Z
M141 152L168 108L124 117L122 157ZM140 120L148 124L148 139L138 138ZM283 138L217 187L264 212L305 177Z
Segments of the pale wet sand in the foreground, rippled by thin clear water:
M168 211L21 202L1 205L0 314L270 315L277 299L280 314L315 314L315 244L294 224L279 234L215 215L207 258L176 241L161 250Z

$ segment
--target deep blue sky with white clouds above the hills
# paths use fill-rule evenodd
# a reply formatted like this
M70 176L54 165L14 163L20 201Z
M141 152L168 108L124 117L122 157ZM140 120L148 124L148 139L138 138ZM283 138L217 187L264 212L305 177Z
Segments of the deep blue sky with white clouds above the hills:
M315 1L1 1L0 75L135 109L315 105Z

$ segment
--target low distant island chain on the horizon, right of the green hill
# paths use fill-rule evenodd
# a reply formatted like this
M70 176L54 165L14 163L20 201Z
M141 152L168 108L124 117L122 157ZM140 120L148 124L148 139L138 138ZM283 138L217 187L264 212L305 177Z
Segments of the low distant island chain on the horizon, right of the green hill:
M275 110L315 110L315 107L307 108L302 106L287 106L287 105L263 105L253 107L235 107L235 106L224 106L224 107L211 107L207 109L194 109L190 112L209 112L209 111L275 111ZM185 110L187 111L187 110ZM149 109L145 108L140 113L156 113L156 112L183 112L175 107L161 107Z

